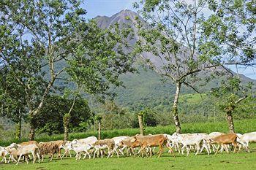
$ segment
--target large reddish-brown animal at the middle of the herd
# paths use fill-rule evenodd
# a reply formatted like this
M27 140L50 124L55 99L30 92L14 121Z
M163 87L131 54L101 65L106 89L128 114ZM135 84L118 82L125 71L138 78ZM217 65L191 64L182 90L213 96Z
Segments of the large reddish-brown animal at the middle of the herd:
M158 158L162 155L162 145L167 141L167 138L163 134L148 135L148 136L133 136L131 142L138 141L140 144L140 152L146 149L146 147L158 147L159 146L159 155ZM147 153L146 153L147 155ZM152 156L152 151L150 150L150 157Z

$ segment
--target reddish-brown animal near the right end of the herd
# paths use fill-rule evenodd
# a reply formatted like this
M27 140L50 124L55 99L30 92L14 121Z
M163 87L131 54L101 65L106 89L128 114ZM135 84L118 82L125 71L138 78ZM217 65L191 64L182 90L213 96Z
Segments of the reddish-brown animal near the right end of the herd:
M215 154L218 153L220 145L222 145L222 147L225 147L227 153L229 153L227 149L227 144L233 144L233 146L235 147L234 152L236 152L236 147L238 147L238 144L236 141L237 138L238 138L237 134L222 134L210 139L210 142L219 144Z

